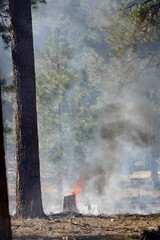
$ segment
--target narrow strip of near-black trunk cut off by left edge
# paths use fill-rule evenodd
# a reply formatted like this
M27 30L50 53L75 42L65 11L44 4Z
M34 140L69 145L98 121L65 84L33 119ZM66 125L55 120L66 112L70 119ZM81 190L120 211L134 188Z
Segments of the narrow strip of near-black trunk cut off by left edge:
M11 222L8 207L8 192L4 153L1 89L0 89L0 239L3 240L12 239Z

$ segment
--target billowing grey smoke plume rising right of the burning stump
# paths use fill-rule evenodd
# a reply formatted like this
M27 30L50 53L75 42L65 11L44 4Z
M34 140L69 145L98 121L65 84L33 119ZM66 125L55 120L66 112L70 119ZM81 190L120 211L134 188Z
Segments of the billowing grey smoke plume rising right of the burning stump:
M155 137L150 132L150 124L157 114L144 92L138 88L126 90L103 108L99 119L97 146L87 161L88 180L81 197L83 203L85 196L97 212L123 212L122 209L116 209L117 204L121 208L127 206L127 211L132 212L132 200L125 202L124 193L121 192L124 178L122 168L127 158L129 164L126 168L129 174L132 154L137 152L140 157L143 151L149 149L151 139ZM140 209L135 212L140 212Z

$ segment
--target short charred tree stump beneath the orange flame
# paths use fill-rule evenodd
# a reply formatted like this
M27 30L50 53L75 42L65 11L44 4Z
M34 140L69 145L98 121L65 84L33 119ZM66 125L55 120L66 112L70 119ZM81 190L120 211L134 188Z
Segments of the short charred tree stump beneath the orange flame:
M64 197L63 212L79 213L76 205L76 195L68 195Z

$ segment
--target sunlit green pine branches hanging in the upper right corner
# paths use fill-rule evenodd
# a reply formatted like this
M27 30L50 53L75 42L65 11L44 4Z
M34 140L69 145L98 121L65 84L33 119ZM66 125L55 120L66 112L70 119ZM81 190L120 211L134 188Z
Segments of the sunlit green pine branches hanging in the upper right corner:
M159 41L160 12L159 9L156 13L154 12L152 8L154 4L157 4L156 0L136 5L130 10L123 7L112 16L106 29L109 31L108 41L114 49L114 54L118 57L121 57L126 51L133 52L140 49L140 46L148 43L154 45L156 41Z

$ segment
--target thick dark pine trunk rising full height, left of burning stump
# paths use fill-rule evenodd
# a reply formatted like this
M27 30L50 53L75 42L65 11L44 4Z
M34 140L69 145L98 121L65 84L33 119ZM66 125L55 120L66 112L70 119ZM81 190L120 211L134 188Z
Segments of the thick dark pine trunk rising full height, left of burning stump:
M43 217L30 0L9 0L16 85L16 215Z

